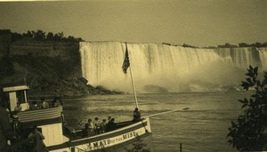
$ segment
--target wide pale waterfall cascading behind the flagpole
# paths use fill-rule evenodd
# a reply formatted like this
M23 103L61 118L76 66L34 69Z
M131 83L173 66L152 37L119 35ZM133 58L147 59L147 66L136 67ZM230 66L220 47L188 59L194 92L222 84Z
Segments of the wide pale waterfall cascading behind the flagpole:
M249 65L267 69L266 48L195 49L167 44L127 44L137 92L224 91L245 78ZM80 43L83 76L89 84L131 92L122 64L125 43ZM150 86L150 87L146 87ZM152 88L152 89L151 89Z

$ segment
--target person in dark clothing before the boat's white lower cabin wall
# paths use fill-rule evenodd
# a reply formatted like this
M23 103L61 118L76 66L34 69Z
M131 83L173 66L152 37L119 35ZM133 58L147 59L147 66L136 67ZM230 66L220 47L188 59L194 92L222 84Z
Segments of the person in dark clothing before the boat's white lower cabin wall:
M39 132L37 126L33 126L32 131L28 134L28 142L32 144L32 152L48 152L44 145L44 135ZM28 149L29 150L29 149Z

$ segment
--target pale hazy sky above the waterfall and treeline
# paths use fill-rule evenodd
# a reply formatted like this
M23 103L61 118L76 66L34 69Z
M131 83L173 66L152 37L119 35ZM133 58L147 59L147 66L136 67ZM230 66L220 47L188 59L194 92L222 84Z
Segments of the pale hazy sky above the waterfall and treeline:
M267 0L77 0L0 2L0 29L41 29L85 41L267 42Z

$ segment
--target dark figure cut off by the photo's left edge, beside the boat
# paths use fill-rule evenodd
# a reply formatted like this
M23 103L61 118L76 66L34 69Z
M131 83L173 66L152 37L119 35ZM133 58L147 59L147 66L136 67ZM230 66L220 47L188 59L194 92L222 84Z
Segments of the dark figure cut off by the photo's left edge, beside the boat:
M7 144L7 140L12 140L12 126L9 122L8 114L4 108L3 101L0 100L0 151L8 152L9 146Z

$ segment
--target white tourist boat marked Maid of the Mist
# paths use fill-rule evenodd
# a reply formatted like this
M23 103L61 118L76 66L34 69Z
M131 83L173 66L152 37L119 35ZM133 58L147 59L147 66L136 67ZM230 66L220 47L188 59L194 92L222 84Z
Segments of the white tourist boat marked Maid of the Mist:
M12 109L16 103L21 103L21 111L11 115L14 132L18 133L17 130L20 129L20 140L26 140L28 130L36 125L44 134L44 144L51 152L131 151L134 143L145 145L148 151L154 151L149 117L136 122L117 123L117 128L113 131L85 137L83 129L75 130L64 121L62 106L28 109L32 104L28 101L28 89L27 85L3 89L5 100L9 100L11 114L14 113ZM12 144L16 146L16 143Z

